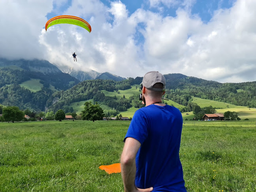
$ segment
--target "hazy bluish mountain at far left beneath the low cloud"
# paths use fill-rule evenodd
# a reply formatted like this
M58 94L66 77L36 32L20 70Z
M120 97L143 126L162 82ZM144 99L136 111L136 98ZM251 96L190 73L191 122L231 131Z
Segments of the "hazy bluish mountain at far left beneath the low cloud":
M11 83L21 84L32 79L40 80L45 88L52 85L57 90L73 87L79 80L60 71L55 65L46 60L7 60L0 58L0 85ZM13 79L16 79L13 81Z

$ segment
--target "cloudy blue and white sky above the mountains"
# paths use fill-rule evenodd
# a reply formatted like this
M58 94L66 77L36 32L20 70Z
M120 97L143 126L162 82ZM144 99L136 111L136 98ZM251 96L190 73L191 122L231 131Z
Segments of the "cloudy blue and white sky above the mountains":
M45 31L58 15L85 19L91 33L71 24ZM255 18L256 0L0 0L0 57L126 78L256 81Z

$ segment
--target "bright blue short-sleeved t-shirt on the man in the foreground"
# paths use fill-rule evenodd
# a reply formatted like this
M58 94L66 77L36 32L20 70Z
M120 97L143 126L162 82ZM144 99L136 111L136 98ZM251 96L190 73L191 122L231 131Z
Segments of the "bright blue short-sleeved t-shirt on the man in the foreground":
M141 143L136 154L138 188L186 192L179 159L182 124L179 109L169 105L149 105L135 112L124 141L132 137Z

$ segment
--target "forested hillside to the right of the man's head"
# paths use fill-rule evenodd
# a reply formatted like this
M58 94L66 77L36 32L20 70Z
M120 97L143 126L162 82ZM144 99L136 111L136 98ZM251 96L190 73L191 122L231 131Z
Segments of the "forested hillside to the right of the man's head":
M191 96L256 107L256 81L246 83L218 83L182 74L168 74L166 98L187 106Z

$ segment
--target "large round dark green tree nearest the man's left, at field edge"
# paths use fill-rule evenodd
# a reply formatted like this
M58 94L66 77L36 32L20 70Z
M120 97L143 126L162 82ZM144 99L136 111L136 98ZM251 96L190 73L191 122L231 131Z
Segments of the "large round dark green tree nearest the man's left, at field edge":
M83 120L102 120L104 116L103 109L96 102L95 105L92 102L85 102L85 110L81 112Z

